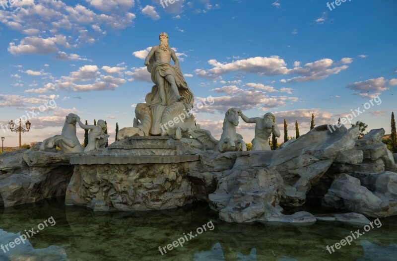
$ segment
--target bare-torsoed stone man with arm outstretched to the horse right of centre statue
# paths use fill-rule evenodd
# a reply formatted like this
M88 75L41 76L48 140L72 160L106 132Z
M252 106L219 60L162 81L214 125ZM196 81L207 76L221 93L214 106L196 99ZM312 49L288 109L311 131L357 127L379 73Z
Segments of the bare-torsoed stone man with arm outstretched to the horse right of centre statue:
M272 113L266 113L263 119L260 117L248 118L241 110L239 110L239 115L244 122L256 124L255 137L252 140L252 150L271 150L268 142L271 132L276 137L280 137L281 135L277 125L273 122L274 115Z

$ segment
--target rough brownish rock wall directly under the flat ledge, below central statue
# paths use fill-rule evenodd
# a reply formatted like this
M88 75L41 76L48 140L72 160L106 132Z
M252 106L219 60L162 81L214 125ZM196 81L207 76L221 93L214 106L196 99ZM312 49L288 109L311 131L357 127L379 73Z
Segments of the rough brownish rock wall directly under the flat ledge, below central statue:
M187 163L75 165L66 204L98 211L160 210L192 202Z

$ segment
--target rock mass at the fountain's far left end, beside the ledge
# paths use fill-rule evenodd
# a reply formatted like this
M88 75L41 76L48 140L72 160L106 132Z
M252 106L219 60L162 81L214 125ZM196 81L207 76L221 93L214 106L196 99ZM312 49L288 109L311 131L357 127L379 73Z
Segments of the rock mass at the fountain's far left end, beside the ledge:
M70 154L17 150L0 154L0 204L19 205L63 196L73 174Z

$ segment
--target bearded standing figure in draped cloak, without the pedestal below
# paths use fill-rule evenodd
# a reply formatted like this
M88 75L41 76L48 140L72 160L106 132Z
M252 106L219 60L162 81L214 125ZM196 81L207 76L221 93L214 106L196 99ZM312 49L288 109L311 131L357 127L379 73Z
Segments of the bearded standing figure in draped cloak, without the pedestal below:
M147 70L157 86L156 93L153 93L153 97L150 98L161 105L171 105L175 101L182 100L188 102L193 94L190 93L188 84L183 77L174 50L168 45L168 35L163 32L159 35L159 39L160 45L154 46L145 59ZM170 64L171 59L175 63L174 66Z

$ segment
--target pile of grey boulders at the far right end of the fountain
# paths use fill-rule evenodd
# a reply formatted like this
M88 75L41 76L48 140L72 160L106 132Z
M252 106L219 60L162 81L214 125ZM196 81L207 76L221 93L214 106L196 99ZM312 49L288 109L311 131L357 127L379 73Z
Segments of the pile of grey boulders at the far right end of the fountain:
M370 217L397 214L397 170L393 154L382 143L384 134L383 129L372 130L355 141L362 162L332 164L331 170L342 174L331 184L323 205Z

